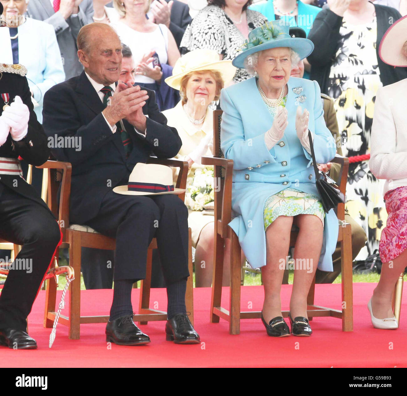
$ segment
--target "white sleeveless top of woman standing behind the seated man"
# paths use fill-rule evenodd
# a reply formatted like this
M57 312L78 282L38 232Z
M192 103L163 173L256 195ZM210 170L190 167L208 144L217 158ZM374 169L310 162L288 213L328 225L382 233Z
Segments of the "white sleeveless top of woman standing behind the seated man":
M121 42L130 47L136 67L142 57L152 50L157 52L160 63L168 62L168 28L165 25L159 24L151 33L138 32L120 21L113 22L111 26L116 30ZM153 69L153 62L149 63L149 67ZM152 78L136 74L135 82L151 84L155 81Z

